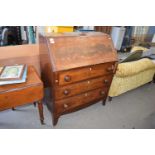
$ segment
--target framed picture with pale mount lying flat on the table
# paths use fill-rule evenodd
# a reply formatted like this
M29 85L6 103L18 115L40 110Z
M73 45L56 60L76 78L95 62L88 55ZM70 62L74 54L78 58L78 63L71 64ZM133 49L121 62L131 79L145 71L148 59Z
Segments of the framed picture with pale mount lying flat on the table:
M25 65L5 66L0 72L0 81L21 79L24 69Z

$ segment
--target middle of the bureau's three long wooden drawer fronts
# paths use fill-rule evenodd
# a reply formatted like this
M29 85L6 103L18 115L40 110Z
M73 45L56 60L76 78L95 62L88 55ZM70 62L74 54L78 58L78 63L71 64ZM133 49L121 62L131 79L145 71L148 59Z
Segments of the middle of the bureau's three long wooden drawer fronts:
M70 84L67 86L57 87L55 91L55 99L63 99L77 94L84 93L89 90L97 89L100 87L108 87L111 84L112 75L85 80L79 83Z

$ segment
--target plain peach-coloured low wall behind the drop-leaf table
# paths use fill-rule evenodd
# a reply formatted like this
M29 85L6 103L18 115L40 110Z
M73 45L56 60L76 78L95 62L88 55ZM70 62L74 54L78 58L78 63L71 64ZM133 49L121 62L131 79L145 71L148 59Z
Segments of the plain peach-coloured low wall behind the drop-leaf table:
M23 63L33 65L40 74L38 44L0 47L0 66Z

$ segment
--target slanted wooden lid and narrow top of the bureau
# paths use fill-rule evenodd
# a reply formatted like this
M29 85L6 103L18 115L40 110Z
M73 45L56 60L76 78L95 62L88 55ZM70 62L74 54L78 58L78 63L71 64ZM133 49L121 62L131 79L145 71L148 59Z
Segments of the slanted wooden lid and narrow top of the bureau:
M112 39L104 33L50 34L46 41L54 71L117 61Z

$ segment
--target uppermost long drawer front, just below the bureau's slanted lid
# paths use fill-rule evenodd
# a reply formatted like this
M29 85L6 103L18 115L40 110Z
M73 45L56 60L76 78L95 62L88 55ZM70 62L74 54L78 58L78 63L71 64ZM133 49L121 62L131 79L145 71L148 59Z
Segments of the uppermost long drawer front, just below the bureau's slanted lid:
M61 72L58 75L59 85L66 85L89 78L108 75L114 73L114 62L99 64L95 66L74 69L66 72Z

